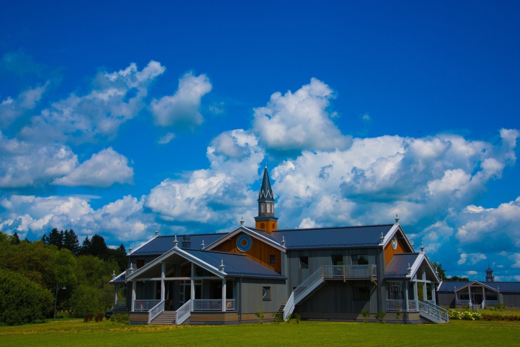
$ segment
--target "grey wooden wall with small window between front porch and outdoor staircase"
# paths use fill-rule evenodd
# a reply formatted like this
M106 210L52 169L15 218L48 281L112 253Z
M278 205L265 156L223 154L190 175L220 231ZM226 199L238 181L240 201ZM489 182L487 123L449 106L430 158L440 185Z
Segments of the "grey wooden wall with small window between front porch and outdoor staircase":
M236 281L238 282L238 280ZM262 287L271 288L271 300L264 301L262 299ZM241 312L244 314L254 314L260 308L264 311L266 318L271 317L271 313L278 312L281 304L287 302L287 287L285 280L279 279L242 279L242 302ZM239 308L237 307L237 310ZM242 318L243 319L243 318Z

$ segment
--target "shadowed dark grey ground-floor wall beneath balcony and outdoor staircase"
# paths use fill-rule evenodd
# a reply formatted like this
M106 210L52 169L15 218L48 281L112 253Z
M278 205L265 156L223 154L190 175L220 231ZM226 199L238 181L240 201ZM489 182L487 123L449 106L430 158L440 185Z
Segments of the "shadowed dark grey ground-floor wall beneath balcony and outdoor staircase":
M353 287L370 287L370 300L354 300ZM377 287L370 281L326 281L314 295L296 305L294 312L330 313L333 317L333 314L339 313L360 314L361 310L370 313L381 311L378 308Z

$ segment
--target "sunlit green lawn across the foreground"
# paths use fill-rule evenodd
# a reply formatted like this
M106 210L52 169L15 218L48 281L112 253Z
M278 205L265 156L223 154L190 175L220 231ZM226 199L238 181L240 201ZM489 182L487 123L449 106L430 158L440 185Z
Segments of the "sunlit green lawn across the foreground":
M516 323L516 324L515 324ZM518 322L449 324L296 322L229 326L148 326L58 321L0 327L2 346L424 346L517 345Z

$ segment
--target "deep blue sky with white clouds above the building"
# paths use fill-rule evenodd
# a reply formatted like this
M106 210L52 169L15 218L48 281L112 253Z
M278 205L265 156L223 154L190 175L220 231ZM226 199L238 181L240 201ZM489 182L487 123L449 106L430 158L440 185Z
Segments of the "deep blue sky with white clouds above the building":
M393 222L520 281L517 2L4 2L0 229Z

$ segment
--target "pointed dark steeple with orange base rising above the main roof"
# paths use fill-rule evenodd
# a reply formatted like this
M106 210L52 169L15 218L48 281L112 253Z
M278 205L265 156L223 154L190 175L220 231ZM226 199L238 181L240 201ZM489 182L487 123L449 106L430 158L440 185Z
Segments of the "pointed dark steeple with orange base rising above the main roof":
M275 196L272 193L267 164L265 164L264 178L258 193L258 216L255 217L255 228L269 234L273 230L278 230L278 218L275 217Z

